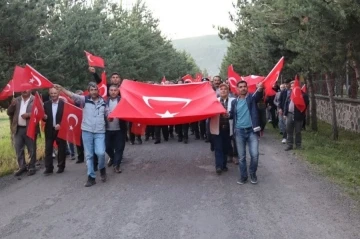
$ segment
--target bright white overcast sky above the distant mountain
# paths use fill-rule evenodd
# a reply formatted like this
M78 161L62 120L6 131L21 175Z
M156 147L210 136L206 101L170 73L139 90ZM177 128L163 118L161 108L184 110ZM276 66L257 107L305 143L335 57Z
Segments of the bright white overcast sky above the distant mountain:
M119 1L119 0L117 0ZM136 0L122 0L130 7ZM161 31L170 39L217 34L215 26L233 28L229 11L233 0L144 0Z

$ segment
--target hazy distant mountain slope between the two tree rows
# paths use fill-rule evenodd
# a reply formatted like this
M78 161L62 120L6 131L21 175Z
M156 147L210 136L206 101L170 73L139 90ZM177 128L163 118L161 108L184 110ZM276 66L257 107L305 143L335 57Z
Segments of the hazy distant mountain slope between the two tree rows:
M173 40L176 49L187 51L201 70L206 69L211 76L219 74L221 61L229 42L218 35L208 35Z

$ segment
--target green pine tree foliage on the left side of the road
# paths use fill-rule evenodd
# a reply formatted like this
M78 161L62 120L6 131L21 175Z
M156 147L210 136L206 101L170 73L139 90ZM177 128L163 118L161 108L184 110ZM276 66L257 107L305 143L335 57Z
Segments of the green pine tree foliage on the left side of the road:
M84 50L103 57L108 74L127 79L172 80L198 70L141 1L129 10L110 0L1 1L0 16L1 87L15 65L28 63L54 83L84 89L92 80Z

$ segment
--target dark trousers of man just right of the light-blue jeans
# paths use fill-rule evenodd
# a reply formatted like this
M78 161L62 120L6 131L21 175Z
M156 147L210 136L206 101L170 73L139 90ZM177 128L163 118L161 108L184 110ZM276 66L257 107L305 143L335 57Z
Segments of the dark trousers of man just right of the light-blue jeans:
M125 134L122 130L107 130L105 134L106 153L114 166L120 166L125 149Z

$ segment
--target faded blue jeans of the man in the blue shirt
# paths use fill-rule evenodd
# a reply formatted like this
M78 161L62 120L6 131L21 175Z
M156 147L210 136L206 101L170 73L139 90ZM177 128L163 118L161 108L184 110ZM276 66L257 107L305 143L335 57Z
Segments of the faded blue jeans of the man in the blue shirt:
M246 165L246 143L249 145L250 166L249 172L255 174L259 161L259 135L252 128L235 129L236 147L239 154L240 177L246 179L248 177Z

